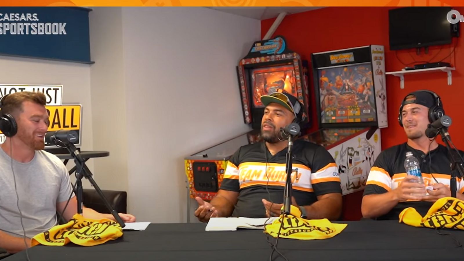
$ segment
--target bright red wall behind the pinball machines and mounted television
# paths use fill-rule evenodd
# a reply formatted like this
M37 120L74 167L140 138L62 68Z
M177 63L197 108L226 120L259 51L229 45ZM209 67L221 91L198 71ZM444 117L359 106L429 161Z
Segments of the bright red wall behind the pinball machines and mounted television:
M464 149L464 137L460 135L464 122L458 121L464 110L464 53L460 52L463 45L463 36L453 39L451 45L431 46L429 53L416 55L415 49L397 51L389 50L388 44L388 10L390 7L328 7L287 15L274 36L282 35L287 40L290 50L299 53L303 59L310 61L310 54L356 46L383 45L385 46L386 71L400 71L402 65L399 59L407 64L414 60L432 62L440 61L450 54L454 45L456 49L451 56L443 61L456 67L452 72L452 85L447 85L445 72L420 73L405 76L405 88L400 89L400 79L387 75L387 111L388 127L381 130L382 149L406 142L403 129L397 121L398 110L402 99L411 91L429 89L438 93L442 98L445 112L453 122L449 129L454 144ZM456 8L464 13L464 7ZM261 38L267 33L275 19L261 21ZM461 26L464 26L461 25ZM462 30L460 30L462 32ZM440 51L440 48L442 50ZM412 66L412 65L408 65ZM311 71L311 70L309 70ZM311 97L314 98L312 75L310 77ZM316 105L310 104L313 118L316 119ZM318 128L317 120L311 131ZM344 196L343 217L345 220L356 220L361 217L362 192Z

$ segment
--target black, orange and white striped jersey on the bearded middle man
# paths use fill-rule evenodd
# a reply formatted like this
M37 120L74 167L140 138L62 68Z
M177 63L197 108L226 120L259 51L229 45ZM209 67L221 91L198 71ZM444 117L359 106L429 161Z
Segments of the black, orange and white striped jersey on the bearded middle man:
M272 156L262 142L242 146L232 155L220 187L239 192L232 216L265 217L262 199L284 202L286 153L284 149ZM338 168L324 147L296 140L292 154L292 196L299 206L316 202L320 195L342 193Z

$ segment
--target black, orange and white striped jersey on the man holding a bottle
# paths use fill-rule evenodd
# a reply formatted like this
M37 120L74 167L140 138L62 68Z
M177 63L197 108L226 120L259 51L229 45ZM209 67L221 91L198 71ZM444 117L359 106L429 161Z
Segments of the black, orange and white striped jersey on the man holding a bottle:
M414 157L420 162L420 170L425 186L436 183L443 183L448 187L450 186L451 167L450 159L448 158L448 150L445 146L438 145L438 148L425 154L421 150L415 150L407 143L404 143L388 148L379 154L367 177L364 196L382 194L398 188L401 180L406 177L404 162L406 159L406 152L408 151L411 151ZM462 151L460 151L460 153L463 155ZM463 193L464 181L461 178L457 178L456 182L458 188L457 193ZM411 200L399 202L390 212L378 217L378 219L398 220L400 212L409 207L416 209L424 216L432 204L432 202Z

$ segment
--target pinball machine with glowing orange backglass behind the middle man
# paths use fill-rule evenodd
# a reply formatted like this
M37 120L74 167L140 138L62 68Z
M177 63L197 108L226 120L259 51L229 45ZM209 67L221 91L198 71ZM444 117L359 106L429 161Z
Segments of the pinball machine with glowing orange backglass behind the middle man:
M264 105L261 95L286 91L297 97L308 112L308 66L296 52L287 48L281 36L257 41L237 66L238 84L245 124L252 131L200 151L185 158L187 175L187 222L190 221L190 202L196 196L211 200L220 187L227 161L246 144L261 141L259 137ZM308 117L307 117L308 118ZM309 122L303 123L309 127Z

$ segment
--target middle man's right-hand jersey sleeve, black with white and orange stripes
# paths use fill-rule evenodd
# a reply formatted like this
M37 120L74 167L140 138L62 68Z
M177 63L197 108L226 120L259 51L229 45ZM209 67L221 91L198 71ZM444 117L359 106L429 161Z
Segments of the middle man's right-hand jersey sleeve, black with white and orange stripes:
M342 193L337 164L324 147L316 149L311 166L311 185L316 196Z

